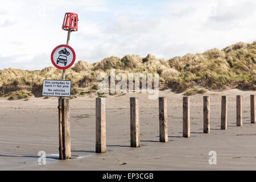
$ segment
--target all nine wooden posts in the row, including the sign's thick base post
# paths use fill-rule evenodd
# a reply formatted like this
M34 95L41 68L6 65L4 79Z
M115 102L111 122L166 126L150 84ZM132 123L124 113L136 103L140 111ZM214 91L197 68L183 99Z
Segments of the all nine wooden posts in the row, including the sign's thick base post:
M210 133L210 98L203 97L203 131ZM106 152L106 101L96 98L96 152ZM190 100L183 97L183 137L191 137ZM255 123L255 95L250 96L251 123ZM221 97L221 130L227 129L228 102ZM159 141L168 142L167 97L159 97ZM60 159L71 158L71 134L69 99L59 100L59 152ZM242 96L237 96L237 126L242 126ZM139 147L139 103L138 98L130 98L130 146Z

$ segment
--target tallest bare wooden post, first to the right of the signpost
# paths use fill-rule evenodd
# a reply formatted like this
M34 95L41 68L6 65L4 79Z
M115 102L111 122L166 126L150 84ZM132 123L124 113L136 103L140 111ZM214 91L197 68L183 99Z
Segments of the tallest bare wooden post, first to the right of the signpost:
M96 98L96 153L106 152L105 98Z

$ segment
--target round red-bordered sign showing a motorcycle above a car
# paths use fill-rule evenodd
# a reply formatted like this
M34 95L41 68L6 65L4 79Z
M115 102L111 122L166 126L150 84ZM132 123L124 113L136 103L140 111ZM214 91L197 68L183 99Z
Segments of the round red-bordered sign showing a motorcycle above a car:
M75 63L76 53L72 47L63 44L53 49L51 60L56 68L68 69Z

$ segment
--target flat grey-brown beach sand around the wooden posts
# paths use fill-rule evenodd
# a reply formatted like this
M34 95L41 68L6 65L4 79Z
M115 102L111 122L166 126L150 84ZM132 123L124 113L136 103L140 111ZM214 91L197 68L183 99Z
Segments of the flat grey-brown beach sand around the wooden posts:
M243 126L236 126L236 95L243 95ZM158 100L146 94L106 98L107 153L95 153L95 98L71 105L71 160L60 161L57 98L0 100L1 170L255 170L256 124L250 123L250 94L237 89L207 92L210 134L203 134L203 95L191 97L191 138L182 137L182 94L168 97L168 143L159 142ZM220 130L221 96L228 97L228 130ZM129 97L139 98L141 147L130 146ZM46 151L46 165L38 152ZM209 151L217 165L209 165Z

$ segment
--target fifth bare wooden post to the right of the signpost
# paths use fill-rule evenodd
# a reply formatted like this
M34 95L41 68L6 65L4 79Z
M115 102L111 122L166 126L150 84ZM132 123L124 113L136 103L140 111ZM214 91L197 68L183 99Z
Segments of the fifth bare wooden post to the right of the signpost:
M204 96L204 133L210 133L210 97Z

